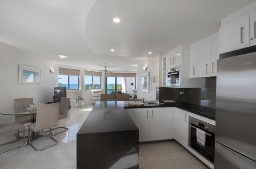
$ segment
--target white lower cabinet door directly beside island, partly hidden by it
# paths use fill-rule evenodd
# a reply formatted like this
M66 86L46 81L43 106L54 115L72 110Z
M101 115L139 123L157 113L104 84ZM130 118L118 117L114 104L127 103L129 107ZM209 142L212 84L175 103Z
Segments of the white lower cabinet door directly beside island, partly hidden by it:
M139 128L139 141L146 142L150 139L150 115L148 108L127 108L126 112Z

